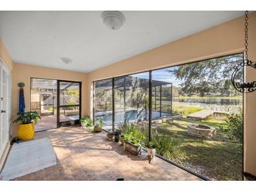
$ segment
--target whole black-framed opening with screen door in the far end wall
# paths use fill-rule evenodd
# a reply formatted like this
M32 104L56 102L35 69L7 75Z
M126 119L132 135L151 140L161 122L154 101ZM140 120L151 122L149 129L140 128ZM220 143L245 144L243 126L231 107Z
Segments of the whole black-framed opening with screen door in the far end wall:
M35 131L79 124L81 82L31 78L30 109L41 116Z

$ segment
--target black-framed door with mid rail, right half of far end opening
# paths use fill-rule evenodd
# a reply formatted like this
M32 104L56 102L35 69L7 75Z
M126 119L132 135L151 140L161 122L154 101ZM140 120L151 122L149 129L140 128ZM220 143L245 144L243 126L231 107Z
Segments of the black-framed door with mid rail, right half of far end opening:
M58 127L79 124L81 118L81 82L58 80Z

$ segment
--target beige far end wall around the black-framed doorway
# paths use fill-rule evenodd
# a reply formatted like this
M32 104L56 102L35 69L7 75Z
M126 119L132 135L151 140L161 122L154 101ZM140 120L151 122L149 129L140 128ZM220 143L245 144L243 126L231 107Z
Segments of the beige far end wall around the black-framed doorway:
M54 78L61 80L69 80L69 81L81 81L82 82L82 116L85 114L86 109L88 108L86 103L86 85L87 76L84 73L74 72L74 71L66 71L60 69L52 69L46 67L36 67L27 64L13 64L13 82L12 82L12 118L16 117L18 112L18 83L24 82L24 97L26 104L26 111L29 111L30 108L30 78L31 77L39 77L39 78ZM13 124L12 135L16 135L17 125Z

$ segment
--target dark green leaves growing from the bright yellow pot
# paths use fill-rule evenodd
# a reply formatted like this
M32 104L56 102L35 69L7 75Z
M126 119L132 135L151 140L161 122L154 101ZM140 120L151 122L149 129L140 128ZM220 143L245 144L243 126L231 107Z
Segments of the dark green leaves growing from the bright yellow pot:
M25 113L18 113L18 118L16 118L13 123L18 123L19 121L22 122L22 124L29 124L34 123L36 124L38 119L41 119L41 116L36 111L29 111Z

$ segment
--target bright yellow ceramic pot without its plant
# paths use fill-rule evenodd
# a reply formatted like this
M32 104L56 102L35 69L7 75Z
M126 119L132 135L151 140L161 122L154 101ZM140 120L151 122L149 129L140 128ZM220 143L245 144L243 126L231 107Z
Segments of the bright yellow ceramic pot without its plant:
M28 141L34 138L34 124L20 124L18 128L18 138L22 141Z

